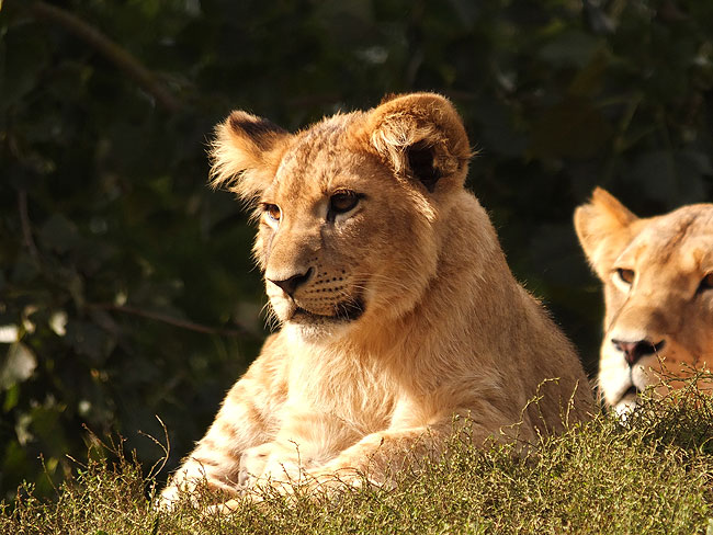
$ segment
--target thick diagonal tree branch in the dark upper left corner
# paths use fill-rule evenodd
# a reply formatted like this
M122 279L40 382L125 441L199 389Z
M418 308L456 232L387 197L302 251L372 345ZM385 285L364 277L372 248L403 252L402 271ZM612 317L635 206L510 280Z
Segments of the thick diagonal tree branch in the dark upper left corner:
M41 0L32 2L29 9L36 19L56 23L87 42L133 79L144 91L151 94L165 109L176 112L181 107L179 101L156 79L151 71L95 27L77 15Z

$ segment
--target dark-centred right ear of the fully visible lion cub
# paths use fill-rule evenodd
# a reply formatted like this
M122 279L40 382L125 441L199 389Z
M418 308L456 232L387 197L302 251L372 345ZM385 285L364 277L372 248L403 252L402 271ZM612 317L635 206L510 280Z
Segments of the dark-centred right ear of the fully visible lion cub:
M370 144L394 172L418 180L429 192L443 178L465 180L471 148L448 99L434 93L386 99L370 112L366 129Z

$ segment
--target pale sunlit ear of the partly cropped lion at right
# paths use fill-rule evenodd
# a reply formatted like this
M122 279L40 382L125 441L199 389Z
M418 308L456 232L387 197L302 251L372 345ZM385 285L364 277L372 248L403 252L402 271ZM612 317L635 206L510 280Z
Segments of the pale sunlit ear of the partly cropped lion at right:
M612 194L595 189L591 201L575 210L579 243L600 278L608 276L616 257L632 238L631 226L638 218Z

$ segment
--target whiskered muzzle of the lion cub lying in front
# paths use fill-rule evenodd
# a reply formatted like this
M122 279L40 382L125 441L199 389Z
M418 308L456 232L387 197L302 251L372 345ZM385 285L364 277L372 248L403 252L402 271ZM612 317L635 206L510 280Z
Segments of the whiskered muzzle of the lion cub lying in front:
M269 294L283 321L344 322L353 321L364 312L362 293L347 270L316 265L290 276L267 274L265 278L282 289L282 295Z

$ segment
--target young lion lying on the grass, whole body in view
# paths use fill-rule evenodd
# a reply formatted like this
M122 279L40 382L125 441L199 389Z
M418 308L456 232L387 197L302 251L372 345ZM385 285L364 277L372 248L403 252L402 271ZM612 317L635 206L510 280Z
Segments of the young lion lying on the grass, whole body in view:
M297 134L241 111L217 127L213 184L256 207L281 329L165 500L203 478L231 492L383 482L438 453L454 414L479 444L587 417L575 351L463 186L469 157L456 111L430 93Z

